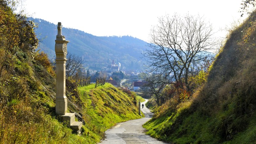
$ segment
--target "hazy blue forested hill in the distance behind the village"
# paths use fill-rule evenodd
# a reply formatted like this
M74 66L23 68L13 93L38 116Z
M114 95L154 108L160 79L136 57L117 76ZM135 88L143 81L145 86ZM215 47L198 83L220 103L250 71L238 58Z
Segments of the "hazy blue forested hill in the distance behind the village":
M30 19L38 24L36 34L41 40L39 48L52 58L55 55L57 26L42 19ZM87 62L85 66L101 69L102 66L107 66L115 60L126 69L142 68L143 62L140 57L146 49L146 42L131 36L98 37L81 30L65 28L65 24L62 25L62 34L66 40L70 41L68 51L85 59Z

